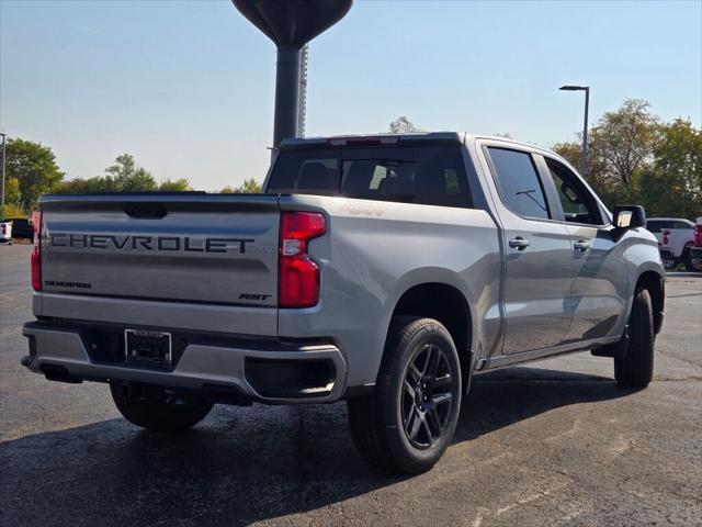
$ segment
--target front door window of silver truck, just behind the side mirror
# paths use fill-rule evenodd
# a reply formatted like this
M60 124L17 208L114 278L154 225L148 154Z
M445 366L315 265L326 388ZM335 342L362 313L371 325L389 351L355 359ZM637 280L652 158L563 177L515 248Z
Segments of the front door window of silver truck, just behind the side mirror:
M602 225L602 216L597 201L588 189L568 168L546 158L548 173L558 193L566 222L587 225Z

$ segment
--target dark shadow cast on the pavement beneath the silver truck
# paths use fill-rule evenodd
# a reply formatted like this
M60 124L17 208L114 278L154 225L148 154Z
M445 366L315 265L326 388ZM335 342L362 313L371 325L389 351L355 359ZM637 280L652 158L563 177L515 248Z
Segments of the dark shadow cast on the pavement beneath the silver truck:
M455 441L629 393L593 375L536 368L486 373L475 380ZM450 472L454 463L434 470ZM246 525L335 505L405 479L365 464L342 404L216 406L182 435L110 419L0 444L4 525ZM325 514L322 523L336 523L333 512Z

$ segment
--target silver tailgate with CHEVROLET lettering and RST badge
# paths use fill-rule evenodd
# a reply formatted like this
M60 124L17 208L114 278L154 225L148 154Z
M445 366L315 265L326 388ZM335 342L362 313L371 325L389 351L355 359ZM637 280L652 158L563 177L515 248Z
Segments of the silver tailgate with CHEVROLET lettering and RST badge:
M278 304L276 195L50 195L41 209L44 293Z

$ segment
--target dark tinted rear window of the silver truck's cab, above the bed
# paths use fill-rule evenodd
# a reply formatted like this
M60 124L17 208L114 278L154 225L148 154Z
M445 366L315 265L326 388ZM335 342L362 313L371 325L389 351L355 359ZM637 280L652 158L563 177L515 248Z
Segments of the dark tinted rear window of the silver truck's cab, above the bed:
M341 195L443 206L471 206L457 146L284 150L268 193Z

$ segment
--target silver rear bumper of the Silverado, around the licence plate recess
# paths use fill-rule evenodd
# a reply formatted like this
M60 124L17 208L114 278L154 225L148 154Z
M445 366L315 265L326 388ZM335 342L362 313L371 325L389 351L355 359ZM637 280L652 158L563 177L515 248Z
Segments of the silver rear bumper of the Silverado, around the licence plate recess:
M31 322L23 332L30 355L22 365L49 380L128 381L174 390L230 393L239 402L322 403L341 399L347 363L333 345L185 345L176 367L160 370L91 359L80 327ZM281 378L290 382L281 384Z

